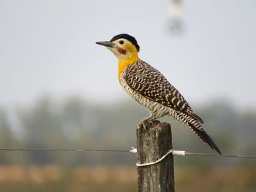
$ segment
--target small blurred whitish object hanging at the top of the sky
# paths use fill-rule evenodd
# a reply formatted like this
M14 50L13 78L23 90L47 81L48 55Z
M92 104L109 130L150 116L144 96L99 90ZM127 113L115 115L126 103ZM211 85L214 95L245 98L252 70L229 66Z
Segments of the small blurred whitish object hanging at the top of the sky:
M182 20L181 0L170 0L169 5L168 31L171 34L183 34L184 22Z

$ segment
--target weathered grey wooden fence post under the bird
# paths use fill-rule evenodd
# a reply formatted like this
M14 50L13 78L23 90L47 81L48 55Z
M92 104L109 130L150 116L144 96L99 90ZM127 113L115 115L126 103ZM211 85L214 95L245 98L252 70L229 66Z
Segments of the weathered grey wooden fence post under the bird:
M138 164L157 161L172 149L169 123L154 120L146 128L137 128ZM158 164L138 166L139 192L174 192L173 155L167 155Z

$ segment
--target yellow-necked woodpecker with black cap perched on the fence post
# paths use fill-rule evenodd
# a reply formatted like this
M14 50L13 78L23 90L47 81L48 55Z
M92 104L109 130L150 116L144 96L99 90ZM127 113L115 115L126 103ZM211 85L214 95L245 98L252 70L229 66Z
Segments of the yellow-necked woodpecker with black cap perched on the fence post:
M138 56L140 46L135 37L129 34L118 34L110 41L96 42L108 48L118 60L118 81L129 96L139 104L147 107L150 116L140 125L152 122L165 115L192 129L197 137L212 150L222 154L214 140L203 129L204 123L184 96L168 82L165 76Z

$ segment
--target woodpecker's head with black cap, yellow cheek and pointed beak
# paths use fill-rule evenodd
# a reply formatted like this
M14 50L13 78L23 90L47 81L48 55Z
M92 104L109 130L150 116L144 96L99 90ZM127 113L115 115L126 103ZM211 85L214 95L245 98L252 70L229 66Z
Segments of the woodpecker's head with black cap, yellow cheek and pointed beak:
M138 52L140 50L140 46L138 45L137 40L129 34L118 34L109 42L96 43L103 45L112 51L116 55L119 63L123 61L134 62L139 59Z

